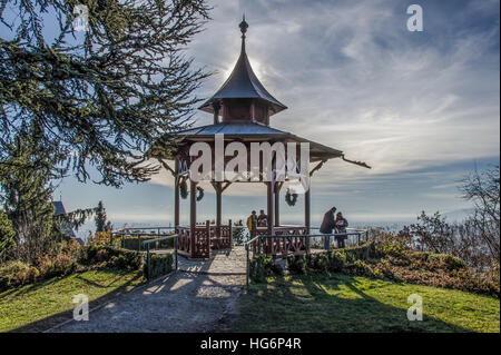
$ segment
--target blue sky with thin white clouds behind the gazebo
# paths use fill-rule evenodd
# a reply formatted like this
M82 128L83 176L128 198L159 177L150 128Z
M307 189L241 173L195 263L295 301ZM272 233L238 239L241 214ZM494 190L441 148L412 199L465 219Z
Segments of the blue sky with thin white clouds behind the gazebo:
M414 221L421 210L456 218L470 205L459 180L475 165L500 160L499 0L225 0L188 48L195 63L215 71L199 97L218 89L238 58L238 23L249 24L247 55L263 85L288 109L277 129L343 150L367 170L331 160L312 180L313 223L335 205L354 224ZM423 9L422 32L410 32L406 9ZM212 116L198 112L198 125ZM96 206L124 223L168 225L173 178L114 189L65 179L55 197L67 209ZM210 187L199 219L214 218ZM283 221L302 223L299 198L281 199ZM266 206L264 185L228 188L224 218ZM188 220L183 201L181 221Z

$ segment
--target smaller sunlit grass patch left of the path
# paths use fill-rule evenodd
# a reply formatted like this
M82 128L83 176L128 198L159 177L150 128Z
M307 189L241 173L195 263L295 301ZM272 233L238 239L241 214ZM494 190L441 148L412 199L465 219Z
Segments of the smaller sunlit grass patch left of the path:
M140 272L94 270L4 290L0 293L0 332L45 331L72 317L75 295L87 295L92 308L143 282Z

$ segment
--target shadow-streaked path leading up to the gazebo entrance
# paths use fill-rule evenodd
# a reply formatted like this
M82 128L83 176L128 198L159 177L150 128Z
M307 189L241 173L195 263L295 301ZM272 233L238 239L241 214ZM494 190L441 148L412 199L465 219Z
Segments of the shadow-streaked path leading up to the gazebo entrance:
M52 332L227 332L245 284L245 250L218 250L210 260L179 257L179 270L124 294L89 321Z

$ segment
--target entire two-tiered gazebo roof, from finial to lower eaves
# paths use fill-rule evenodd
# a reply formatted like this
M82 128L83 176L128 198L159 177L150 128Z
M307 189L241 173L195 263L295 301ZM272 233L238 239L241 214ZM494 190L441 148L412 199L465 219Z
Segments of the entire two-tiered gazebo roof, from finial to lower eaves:
M272 115L272 112L276 114L286 109L286 107L277 101L254 75L245 52L245 32L248 28L245 18L239 27L242 31L240 57L223 87L200 106L202 110L214 112L214 125L191 127L165 134L157 141L158 146L149 149L150 157L160 157L163 155L160 159L176 159L177 156L186 154L186 148L191 144L204 141L210 145L214 144L216 135L224 135L227 141L234 140L244 144L253 141L269 141L271 144L276 141L284 144L307 142L310 144L310 161L321 161L323 164L328 159L342 158L344 161L370 168L365 162L346 159L342 150L269 127L268 116L263 116L263 111L261 111L261 116L254 116L258 109L264 108L265 112L269 111L269 115ZM250 99L250 102L245 99ZM255 101L261 101L263 105L256 105ZM220 103L223 103L223 121L218 119ZM248 108L249 110L247 110ZM156 149L165 146L170 147L167 150Z

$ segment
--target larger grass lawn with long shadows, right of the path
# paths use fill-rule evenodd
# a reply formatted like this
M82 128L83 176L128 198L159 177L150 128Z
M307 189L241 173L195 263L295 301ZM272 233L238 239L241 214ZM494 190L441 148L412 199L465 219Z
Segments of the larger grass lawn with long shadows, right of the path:
M407 321L411 294L422 322ZM239 307L236 332L500 332L498 298L345 275L252 283Z

